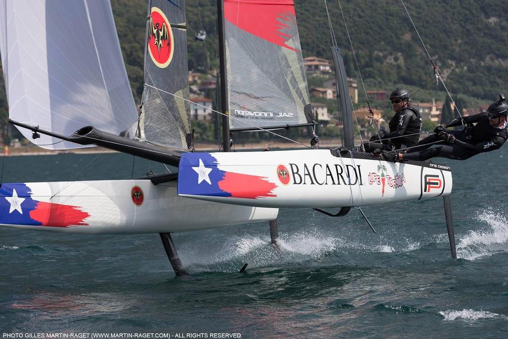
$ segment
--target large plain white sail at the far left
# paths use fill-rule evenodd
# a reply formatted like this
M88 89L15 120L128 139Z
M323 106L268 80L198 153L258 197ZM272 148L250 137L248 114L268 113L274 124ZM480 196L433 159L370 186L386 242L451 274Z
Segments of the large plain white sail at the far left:
M91 125L134 137L138 113L109 1L3 0L0 12L11 119L66 136ZM43 148L87 147L20 131Z

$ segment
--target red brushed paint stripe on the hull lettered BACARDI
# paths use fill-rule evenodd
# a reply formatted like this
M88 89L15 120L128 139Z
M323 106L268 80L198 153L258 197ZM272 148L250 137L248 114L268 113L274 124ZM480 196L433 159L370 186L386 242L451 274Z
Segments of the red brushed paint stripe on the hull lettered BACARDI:
M267 178L257 175L226 172L218 187L231 193L232 198L256 199L261 197L276 197L272 191L277 187Z

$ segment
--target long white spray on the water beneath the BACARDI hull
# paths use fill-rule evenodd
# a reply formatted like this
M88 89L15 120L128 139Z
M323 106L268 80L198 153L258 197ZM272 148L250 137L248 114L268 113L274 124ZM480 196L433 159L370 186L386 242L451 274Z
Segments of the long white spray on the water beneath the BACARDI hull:
M210 243L201 244L201 250L196 251L193 244L179 249L180 258L188 270L193 272L222 271L231 272L239 269L243 262L249 267L279 266L281 263L299 264L320 259L334 253L396 253L409 252L420 248L419 242L394 241L379 238L377 243L361 243L357 236L339 236L334 231L322 230L319 227L296 233L280 234L277 244L280 253L271 245L270 237L266 233L244 234L230 236L224 240L221 247ZM365 240L365 239L364 239ZM216 244L216 242L215 242Z

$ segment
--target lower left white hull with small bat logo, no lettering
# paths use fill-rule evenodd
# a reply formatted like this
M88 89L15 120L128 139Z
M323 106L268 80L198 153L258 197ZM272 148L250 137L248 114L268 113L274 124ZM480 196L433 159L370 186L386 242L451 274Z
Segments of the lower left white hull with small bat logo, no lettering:
M180 232L268 221L277 213L276 208L178 197L176 182L157 186L150 180L33 182L4 183L0 188L0 226L31 230Z

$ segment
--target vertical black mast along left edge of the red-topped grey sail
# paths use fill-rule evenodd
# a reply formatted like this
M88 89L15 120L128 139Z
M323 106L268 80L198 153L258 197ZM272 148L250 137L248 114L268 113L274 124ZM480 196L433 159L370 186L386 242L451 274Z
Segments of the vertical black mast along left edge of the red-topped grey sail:
M229 102L228 102L228 80L226 78L226 44L224 36L224 2L217 0L217 25L219 34L219 60L220 60L220 106L223 127L223 150L230 151L229 137Z

